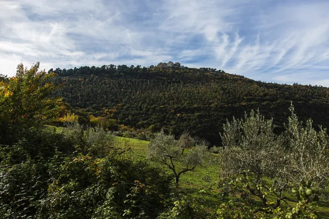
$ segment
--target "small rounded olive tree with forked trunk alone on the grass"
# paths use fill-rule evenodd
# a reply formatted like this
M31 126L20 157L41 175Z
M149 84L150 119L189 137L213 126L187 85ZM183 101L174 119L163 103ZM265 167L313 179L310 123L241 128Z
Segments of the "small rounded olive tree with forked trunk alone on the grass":
M209 155L205 144L197 144L190 147L188 153L182 153L185 148L186 146L175 140L173 135L166 135L161 131L146 147L146 153L148 159L167 165L173 171L175 184L178 186L180 176L201 165Z

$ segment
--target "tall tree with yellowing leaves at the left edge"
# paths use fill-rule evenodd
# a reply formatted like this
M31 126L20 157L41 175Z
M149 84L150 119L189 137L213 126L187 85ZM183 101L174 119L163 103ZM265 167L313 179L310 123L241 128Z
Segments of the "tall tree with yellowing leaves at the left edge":
M60 100L50 97L57 88L51 82L55 74L39 72L39 66L37 62L28 70L19 64L15 77L0 80L0 144L54 120Z

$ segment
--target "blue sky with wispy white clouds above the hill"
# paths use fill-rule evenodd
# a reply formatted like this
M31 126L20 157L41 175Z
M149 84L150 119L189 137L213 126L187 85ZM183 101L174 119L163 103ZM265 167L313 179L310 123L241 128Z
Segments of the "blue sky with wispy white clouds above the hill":
M0 0L0 73L156 65L329 87L329 0Z

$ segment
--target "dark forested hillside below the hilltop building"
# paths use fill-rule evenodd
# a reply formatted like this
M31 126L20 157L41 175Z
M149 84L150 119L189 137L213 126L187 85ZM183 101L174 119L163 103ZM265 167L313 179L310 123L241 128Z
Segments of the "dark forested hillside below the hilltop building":
M282 131L291 101L302 120L329 127L329 88L263 83L208 68L109 65L54 72L62 85L54 95L75 109L132 128L164 128L176 136L189 131L216 145L226 119L251 109L273 117L274 130Z

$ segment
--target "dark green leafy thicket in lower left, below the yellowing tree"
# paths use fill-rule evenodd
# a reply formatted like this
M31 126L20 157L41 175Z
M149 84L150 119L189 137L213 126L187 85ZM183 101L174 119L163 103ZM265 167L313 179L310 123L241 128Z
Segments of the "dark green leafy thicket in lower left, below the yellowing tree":
M113 148L102 128L84 135L68 129L39 130L38 135L1 149L1 215L137 219L155 218L164 209L171 177L163 169ZM83 145L73 145L74 141ZM103 143L109 146L106 151ZM80 148L86 148L85 153L74 152L83 152Z

